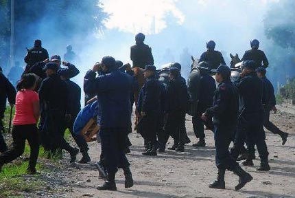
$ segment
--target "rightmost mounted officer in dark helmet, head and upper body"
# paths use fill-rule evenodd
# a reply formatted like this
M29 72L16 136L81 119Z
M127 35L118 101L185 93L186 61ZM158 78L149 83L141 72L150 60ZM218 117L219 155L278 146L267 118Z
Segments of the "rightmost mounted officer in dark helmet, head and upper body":
M266 54L264 54L263 51L258 50L259 41L257 39L253 39L250 41L250 45L252 49L245 52L244 56L241 58L241 61L255 61L256 68L268 67L268 58L266 58Z

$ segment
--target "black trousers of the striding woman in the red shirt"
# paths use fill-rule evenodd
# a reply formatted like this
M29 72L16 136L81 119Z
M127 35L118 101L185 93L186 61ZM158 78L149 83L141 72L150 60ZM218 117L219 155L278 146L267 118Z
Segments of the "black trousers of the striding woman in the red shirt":
M14 125L12 127L13 146L10 150L0 155L0 163L7 164L21 156L25 150L25 140L27 140L31 149L29 154L29 168L35 168L39 153L38 136L36 124Z

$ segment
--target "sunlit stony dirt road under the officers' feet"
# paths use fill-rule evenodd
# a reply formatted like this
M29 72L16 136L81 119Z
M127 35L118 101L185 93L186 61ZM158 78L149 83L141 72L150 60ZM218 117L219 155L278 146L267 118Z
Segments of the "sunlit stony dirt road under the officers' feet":
M271 120L283 131L290 133L285 146L281 137L267 132L267 144L270 152L270 172L259 173L255 166L244 167L254 179L239 191L234 190L238 177L226 172L226 190L212 190L209 182L216 176L215 148L213 133L206 131L207 146L194 148L196 141L193 134L191 117L187 116L187 132L192 142L185 146L184 153L167 151L156 157L141 155L143 139L136 133L130 134L132 142L128 159L132 164L134 186L124 189L122 170L116 176L117 192L99 191L96 189L103 180L98 179L98 172L93 166L99 159L99 144L90 144L90 155L93 162L86 165L76 164L67 167L62 181L70 190L62 192L62 197L295 197L295 116L290 113L271 115ZM172 140L169 140L172 142ZM171 143L170 143L171 144ZM80 157L80 156L79 156Z

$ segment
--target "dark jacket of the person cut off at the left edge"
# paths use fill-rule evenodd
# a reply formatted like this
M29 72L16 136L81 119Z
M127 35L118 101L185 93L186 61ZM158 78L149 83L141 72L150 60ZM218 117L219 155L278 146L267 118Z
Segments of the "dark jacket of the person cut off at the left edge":
M16 91L13 85L3 74L0 74L0 119L3 118L7 98L10 104L15 104L15 96Z

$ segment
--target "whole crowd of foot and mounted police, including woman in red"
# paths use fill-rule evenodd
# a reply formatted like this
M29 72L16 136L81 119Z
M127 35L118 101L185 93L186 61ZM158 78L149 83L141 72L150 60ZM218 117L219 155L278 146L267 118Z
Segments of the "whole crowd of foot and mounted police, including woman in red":
M0 135L0 170L3 164L23 154L25 140L31 146L28 173L36 173L39 144L48 158L61 155L62 150L66 150L71 157L70 162L75 162L80 151L82 159L79 162L90 162L88 144L75 124L81 122L83 111L93 109L98 115L98 135L102 146L96 166L99 176L105 179L97 189L117 190L115 175L118 168L123 169L125 188L130 188L133 179L126 154L130 153L131 146L128 133L132 132L133 104L137 115L134 130L143 137L142 155L165 153L169 137L174 144L167 149L185 151L185 144L191 142L185 126L188 112L192 115L193 131L198 138L193 146L206 146L205 127L213 131L218 171L209 188L225 188L225 170L239 176L235 190L251 181L252 176L239 166L237 160L245 159L242 162L244 166L253 166L255 145L260 157L257 170L270 170L263 126L279 134L283 144L288 133L269 120L270 111L276 111L276 99L274 87L266 78L268 60L264 52L258 50L259 41L254 39L250 42L251 50L246 51L241 59L240 74L235 80L231 78L231 68L226 66L222 54L215 50L215 42L208 41L207 51L200 56L196 67L191 68L192 72L198 72L198 80L190 76L187 85L187 80L180 74L182 65L179 63L172 63L165 70L167 79L160 80L161 71L154 66L152 49L144 40L142 33L135 36L136 44L130 48L132 66L105 56L86 72L84 92L88 99L94 97L91 101L95 102L84 109L80 104L81 89L71 81L80 73L79 70L75 65L61 61L58 55L49 58L41 41L36 40L25 56L27 67L16 85L17 93L9 80L3 74L0 76L1 120L7 98L12 107L16 106L12 148L8 149ZM67 50L67 56L74 55L70 53L71 46ZM198 96L197 100L192 100L193 95ZM96 108L92 108L93 104ZM93 115L88 114L89 118ZM2 122L0 127L3 131ZM66 129L71 132L79 149L64 140ZM231 142L233 148L230 150Z

